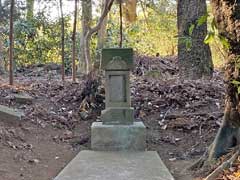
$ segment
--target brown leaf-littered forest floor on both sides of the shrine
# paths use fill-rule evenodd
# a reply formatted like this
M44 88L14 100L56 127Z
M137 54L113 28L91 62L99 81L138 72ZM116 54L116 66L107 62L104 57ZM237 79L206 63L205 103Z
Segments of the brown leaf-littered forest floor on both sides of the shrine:
M176 58L137 57L131 75L135 118L147 127L147 149L156 150L176 180L213 141L223 116L223 75L182 81ZM34 66L0 76L0 104L25 112L21 123L0 121L0 180L51 180L80 151L90 149L90 126L104 109L101 76L60 81L59 67ZM33 103L19 104L14 93Z

